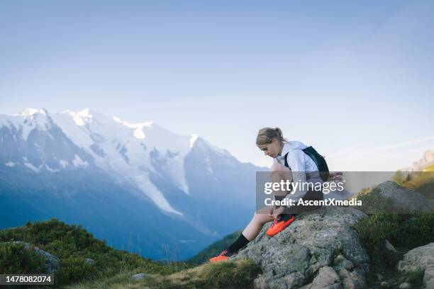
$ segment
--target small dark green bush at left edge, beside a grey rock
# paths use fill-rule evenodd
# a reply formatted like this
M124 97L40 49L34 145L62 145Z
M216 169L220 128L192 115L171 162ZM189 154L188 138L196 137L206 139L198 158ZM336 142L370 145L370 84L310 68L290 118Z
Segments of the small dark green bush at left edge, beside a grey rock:
M44 273L45 259L24 244L0 243L0 273Z

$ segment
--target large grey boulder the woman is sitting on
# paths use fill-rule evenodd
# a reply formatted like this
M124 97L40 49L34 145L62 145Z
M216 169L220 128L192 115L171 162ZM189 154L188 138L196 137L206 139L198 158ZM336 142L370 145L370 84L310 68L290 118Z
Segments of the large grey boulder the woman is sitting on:
M272 238L265 225L231 259L248 258L262 268L256 288L364 288L369 259L351 227L364 216L342 207L305 212Z

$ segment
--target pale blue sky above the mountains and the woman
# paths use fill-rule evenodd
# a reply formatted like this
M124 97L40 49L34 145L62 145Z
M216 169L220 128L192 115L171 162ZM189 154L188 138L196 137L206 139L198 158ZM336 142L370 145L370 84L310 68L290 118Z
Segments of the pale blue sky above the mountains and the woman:
M434 1L0 1L0 113L91 108L270 164L280 127L334 170L434 149Z

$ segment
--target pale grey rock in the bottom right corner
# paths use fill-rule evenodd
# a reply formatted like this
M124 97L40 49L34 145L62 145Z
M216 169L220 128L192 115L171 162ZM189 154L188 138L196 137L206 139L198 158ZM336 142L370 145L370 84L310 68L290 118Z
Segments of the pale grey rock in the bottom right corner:
M401 273L423 270L424 288L434 289L434 243L412 249L399 261L398 270Z

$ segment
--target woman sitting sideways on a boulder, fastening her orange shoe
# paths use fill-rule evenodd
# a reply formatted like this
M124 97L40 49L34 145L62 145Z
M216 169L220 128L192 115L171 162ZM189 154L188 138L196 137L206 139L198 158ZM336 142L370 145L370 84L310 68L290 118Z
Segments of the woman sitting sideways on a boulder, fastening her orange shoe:
M321 181L318 174L318 166L303 151L303 149L306 149L306 145L301 142L289 142L285 140L282 130L279 128L262 128L257 134L256 145L265 155L273 158L272 182L280 183L282 180L286 182L286 180L292 181L292 179L300 183ZM289 197L286 197L287 193L289 192L274 192L274 198L275 200L283 200ZM323 193L321 191L303 191L297 189L289 195L291 195L291 199L295 202L299 198L303 198L304 200L323 200ZM240 234L240 237L228 249L222 251L221 254L211 258L209 261L223 261L237 254L239 249L257 237L267 222L273 221L271 227L267 230L267 235L273 237L275 234L282 232L284 228L295 220L295 213L302 211L306 211L306 208L297 206L291 206L290 208L283 206L262 208L260 212L255 212L255 215L253 215L250 223Z

